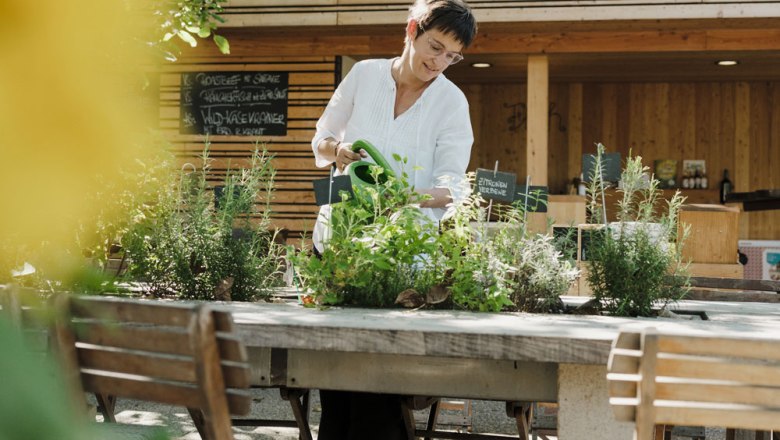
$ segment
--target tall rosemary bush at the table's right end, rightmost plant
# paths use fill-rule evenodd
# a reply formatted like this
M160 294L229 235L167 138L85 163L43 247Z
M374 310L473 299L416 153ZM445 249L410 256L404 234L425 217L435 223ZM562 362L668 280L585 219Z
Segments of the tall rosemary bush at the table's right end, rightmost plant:
M604 209L598 145L589 194L591 214ZM618 188L617 222L592 233L588 282L600 308L618 316L652 316L654 307L666 307L688 289L682 244L687 229L678 234L678 213L685 201L677 191L663 212L658 181L647 178L648 167L640 156L629 157ZM670 276L671 275L671 276Z

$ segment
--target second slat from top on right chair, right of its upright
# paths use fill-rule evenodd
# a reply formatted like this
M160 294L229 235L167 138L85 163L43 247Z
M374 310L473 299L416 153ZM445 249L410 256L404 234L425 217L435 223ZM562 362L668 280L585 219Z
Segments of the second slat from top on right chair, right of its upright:
M739 366L738 368L736 366ZM656 376L726 380L761 386L780 386L780 366L753 365L723 358L659 358Z

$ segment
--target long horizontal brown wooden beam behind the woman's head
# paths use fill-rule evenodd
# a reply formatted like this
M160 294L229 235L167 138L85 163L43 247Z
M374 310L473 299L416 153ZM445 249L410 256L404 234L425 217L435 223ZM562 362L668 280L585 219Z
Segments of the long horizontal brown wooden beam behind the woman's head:
M347 31L348 29L348 31ZM556 29L561 29L556 31ZM403 49L403 25L223 28L234 56L384 56ZM780 30L644 29L518 32L481 29L466 51L476 54L711 52L780 50ZM187 56L219 56L213 44L187 49Z

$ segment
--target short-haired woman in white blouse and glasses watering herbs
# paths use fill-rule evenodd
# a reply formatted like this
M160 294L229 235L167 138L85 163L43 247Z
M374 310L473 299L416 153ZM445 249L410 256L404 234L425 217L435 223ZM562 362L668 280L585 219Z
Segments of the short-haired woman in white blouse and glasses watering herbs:
M421 209L434 221L460 194L474 136L466 97L442 72L463 59L477 32L462 0L416 0L409 8L400 57L358 62L317 122L316 164L336 174L366 157L352 143L366 140L385 157L406 157L409 183L430 198ZM391 161L395 174L400 164ZM314 227L315 251L327 246L330 207ZM406 438L398 396L322 391L319 439Z

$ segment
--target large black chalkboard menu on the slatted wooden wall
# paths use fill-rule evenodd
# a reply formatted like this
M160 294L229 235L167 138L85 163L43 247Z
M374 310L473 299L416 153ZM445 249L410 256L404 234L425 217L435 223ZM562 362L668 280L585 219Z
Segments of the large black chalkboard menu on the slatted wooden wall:
M287 135L287 72L181 74L182 134Z

